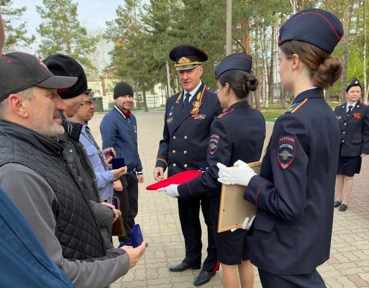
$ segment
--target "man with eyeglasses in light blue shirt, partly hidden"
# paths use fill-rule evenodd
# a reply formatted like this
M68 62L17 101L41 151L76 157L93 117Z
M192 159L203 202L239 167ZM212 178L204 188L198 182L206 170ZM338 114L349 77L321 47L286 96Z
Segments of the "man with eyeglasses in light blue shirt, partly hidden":
M113 148L107 148L101 151L99 145L96 143L92 136L87 122L92 119L94 115L94 110L96 108L93 102L93 96L95 92L92 89L87 89L83 94L83 102L85 105L80 106L78 111L75 113L70 120L81 123L82 130L79 136L79 141L86 148L86 153L90 158L91 164L95 171L97 186L99 186L99 192L101 197L106 197L108 203L112 203L111 199L113 197L113 186L117 191L122 191L123 187L119 180L119 175L121 175L121 170L127 172L127 166L120 169L110 170L108 163L111 161L111 156L106 158L105 154L109 154L110 151L115 153Z

